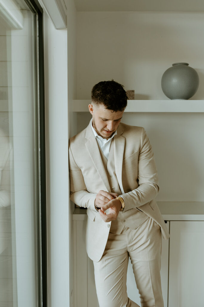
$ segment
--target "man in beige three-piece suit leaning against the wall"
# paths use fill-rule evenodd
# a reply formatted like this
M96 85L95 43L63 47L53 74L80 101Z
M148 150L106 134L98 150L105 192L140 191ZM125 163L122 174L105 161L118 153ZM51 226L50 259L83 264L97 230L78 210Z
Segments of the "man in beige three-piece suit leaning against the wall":
M121 122L127 96L102 81L91 92L92 119L69 141L70 199L87 208L86 248L100 307L138 307L127 296L130 257L142 307L163 307L158 176L143 127ZM91 306L90 306L91 307Z

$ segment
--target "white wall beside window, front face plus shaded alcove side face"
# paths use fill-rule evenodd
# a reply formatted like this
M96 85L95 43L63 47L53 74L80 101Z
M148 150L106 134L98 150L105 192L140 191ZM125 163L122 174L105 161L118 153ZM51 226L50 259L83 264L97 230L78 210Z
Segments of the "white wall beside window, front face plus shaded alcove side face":
M44 12L45 13L45 12ZM74 204L69 201L68 141L76 134L76 9L67 1L67 29L44 14L48 306L73 306Z

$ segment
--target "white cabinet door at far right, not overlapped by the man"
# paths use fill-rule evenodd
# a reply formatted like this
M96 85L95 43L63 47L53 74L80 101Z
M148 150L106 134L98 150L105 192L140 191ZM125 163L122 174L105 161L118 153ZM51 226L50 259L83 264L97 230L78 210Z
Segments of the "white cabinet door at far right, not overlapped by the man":
M170 222L169 307L204 306L204 221Z

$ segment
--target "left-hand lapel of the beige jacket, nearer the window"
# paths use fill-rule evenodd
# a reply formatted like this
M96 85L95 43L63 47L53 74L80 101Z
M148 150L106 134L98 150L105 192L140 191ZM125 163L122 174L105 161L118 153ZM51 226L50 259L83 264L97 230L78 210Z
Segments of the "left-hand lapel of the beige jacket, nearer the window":
M97 169L98 175L101 177L107 192L111 192L106 170L104 169L101 154L98 149L98 143L96 141L95 135L93 134L90 124L87 127L85 138L87 138L85 146L91 157L91 160L95 165L95 168Z

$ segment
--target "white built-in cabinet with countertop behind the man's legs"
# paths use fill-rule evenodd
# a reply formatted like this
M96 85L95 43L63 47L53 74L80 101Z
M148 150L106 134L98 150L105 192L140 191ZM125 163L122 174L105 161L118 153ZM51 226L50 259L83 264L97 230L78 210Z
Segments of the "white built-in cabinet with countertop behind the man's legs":
M204 203L158 202L170 231L162 239L161 284L165 307L203 307ZM86 210L76 208L74 231L74 307L98 307L94 267L85 249ZM131 262L128 297L140 305Z

